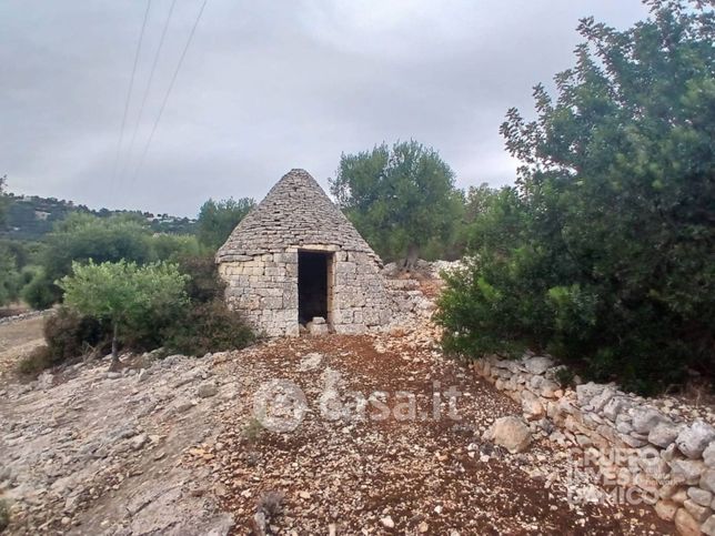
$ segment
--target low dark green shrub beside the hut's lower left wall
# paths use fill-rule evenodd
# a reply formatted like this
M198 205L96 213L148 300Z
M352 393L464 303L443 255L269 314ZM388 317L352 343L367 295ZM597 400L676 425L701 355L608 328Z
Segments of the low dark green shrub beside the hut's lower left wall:
M253 340L253 332L243 317L220 300L192 304L163 334L167 350L187 355L243 348Z

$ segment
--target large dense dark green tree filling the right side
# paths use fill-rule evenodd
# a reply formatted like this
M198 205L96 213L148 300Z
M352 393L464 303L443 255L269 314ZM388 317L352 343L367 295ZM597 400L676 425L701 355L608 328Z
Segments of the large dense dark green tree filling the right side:
M508 111L518 195L479 223L508 240L450 281L447 346L521 340L641 392L715 370L715 16L646 3L625 31L583 19L556 98Z

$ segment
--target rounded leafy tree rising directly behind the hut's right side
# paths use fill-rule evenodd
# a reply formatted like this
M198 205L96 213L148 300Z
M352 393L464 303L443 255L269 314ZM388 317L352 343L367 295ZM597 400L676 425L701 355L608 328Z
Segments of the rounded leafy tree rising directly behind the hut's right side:
M331 192L358 231L385 259L412 264L430 242L445 242L462 200L440 154L416 141L342 154Z

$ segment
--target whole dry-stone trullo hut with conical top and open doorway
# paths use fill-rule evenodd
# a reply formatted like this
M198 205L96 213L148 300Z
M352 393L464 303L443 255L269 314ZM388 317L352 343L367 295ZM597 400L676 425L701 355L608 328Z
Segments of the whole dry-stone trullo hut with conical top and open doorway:
M348 334L390 321L382 261L303 170L271 189L216 262L229 306L269 336L298 335L314 317Z

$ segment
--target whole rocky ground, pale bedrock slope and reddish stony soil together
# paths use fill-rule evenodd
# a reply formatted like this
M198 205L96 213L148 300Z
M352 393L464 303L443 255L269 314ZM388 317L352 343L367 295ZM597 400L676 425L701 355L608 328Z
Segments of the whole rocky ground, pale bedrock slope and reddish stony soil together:
M541 439L511 454L482 439L495 418L521 408L445 360L435 335L426 323L203 358L134 356L119 374L104 361L31 384L6 378L0 497L12 505L9 532L672 529L648 507L573 504L583 496L574 491L593 482L564 447ZM450 398L450 387L461 394Z

